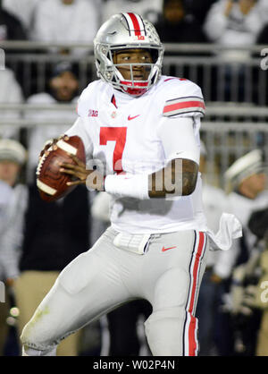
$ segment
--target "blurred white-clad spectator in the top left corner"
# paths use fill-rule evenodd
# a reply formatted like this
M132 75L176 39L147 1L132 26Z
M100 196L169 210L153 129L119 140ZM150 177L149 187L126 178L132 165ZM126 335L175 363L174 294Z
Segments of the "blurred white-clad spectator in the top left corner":
M16 16L29 33L35 7L42 0L2 0L3 8Z

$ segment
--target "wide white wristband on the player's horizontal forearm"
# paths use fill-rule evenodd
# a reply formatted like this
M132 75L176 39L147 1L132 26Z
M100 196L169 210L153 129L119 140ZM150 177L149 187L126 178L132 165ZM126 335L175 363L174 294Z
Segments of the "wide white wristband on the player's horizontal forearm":
M120 197L148 200L148 175L107 175L105 177L105 191Z

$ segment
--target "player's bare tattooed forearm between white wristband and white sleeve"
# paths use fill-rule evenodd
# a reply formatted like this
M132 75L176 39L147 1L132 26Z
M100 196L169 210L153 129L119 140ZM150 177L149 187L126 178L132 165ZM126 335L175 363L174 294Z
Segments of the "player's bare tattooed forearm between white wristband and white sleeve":
M197 174L198 165L194 161L173 159L168 166L150 175L149 197L188 196L195 191Z

